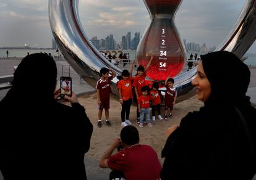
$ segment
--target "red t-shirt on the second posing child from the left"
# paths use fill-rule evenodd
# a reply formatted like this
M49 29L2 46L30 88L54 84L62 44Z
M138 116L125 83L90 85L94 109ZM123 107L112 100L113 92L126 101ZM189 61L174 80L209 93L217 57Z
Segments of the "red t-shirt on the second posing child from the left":
M132 99L133 96L131 78L128 78L127 80L118 81L117 88L121 89L122 100Z

